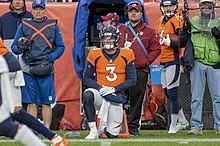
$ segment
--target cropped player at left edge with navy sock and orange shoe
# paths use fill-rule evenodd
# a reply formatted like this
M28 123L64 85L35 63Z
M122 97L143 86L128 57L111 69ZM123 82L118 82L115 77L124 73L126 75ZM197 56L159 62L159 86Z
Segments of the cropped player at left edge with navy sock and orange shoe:
M27 125L38 133L42 134L47 139L51 140L52 145L59 146L59 144L64 143L64 146L68 145L65 137L56 135L50 129L46 128L42 123L38 121L35 117L22 110L21 104L21 86L24 86L23 73L21 71L20 64L15 56L8 51L0 38L0 55L4 57L9 67L9 79L11 86L11 98L13 99L14 111L12 112L11 118L14 121L18 121L22 124Z

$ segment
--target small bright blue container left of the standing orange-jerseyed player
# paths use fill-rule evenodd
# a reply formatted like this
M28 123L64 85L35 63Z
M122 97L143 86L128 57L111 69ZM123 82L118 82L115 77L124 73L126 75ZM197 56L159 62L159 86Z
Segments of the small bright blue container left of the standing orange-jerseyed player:
M151 85L161 84L162 70L163 70L163 65L150 65Z

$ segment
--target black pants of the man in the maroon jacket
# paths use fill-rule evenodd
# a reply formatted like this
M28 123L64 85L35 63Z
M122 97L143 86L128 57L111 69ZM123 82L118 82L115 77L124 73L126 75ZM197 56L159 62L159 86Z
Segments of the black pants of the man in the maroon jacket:
M138 132L142 103L145 95L148 74L137 70L137 83L129 89L130 108L127 111L129 132Z

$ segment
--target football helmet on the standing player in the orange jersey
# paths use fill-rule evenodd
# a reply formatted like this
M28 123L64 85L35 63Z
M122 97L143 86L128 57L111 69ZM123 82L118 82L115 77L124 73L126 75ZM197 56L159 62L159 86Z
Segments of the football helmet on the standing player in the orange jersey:
M169 8L165 8L170 6ZM171 17L177 13L178 1L177 0L161 0L160 11L164 16Z

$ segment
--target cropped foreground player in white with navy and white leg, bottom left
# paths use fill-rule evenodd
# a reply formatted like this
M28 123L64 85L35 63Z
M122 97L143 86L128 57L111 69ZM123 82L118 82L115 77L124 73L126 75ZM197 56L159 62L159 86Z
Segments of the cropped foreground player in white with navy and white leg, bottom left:
M46 146L27 126L15 124L10 117L14 105L8 71L7 63L0 55L0 133L26 146Z

